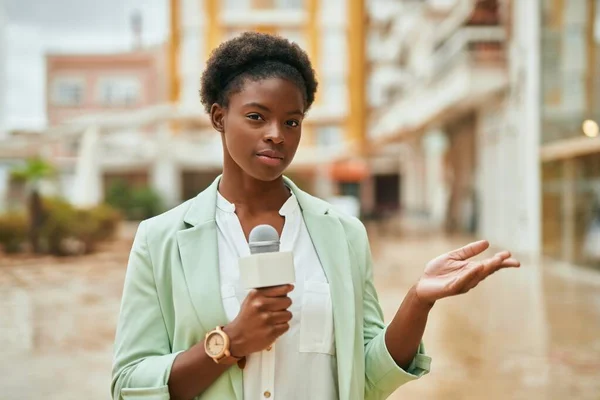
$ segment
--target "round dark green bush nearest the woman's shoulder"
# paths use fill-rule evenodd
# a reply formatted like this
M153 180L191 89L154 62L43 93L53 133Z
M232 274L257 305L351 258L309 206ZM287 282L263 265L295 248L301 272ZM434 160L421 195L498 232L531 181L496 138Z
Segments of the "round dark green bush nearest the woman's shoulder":
M131 187L119 180L109 186L106 203L120 210L128 220L142 220L160 214L163 202L149 187Z

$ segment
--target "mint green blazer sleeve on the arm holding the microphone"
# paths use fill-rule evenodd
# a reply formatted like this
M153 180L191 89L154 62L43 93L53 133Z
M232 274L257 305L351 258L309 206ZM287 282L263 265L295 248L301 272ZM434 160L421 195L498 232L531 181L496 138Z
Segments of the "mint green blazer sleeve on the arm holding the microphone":
M146 223L136 233L123 287L115 338L111 392L114 400L168 400L171 353L152 261Z

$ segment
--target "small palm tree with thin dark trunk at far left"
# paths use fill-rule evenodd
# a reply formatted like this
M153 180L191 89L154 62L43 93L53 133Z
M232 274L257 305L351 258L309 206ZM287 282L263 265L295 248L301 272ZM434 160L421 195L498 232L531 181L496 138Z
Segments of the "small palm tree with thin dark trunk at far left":
M55 174L52 164L40 157L34 157L21 167L11 171L11 176L17 181L24 182L27 186L29 195L27 201L27 211L29 214L29 240L31 247L36 254L41 253L40 248L40 230L43 223L42 199L40 196L40 185L44 179L50 178Z

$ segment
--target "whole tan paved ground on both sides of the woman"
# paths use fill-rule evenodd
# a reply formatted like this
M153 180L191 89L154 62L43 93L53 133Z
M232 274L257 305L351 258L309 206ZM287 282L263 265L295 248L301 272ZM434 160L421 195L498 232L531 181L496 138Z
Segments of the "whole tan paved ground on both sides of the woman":
M468 239L371 241L389 321L425 263ZM82 258L0 258L0 399L110 398L130 244ZM434 307L424 339L432 371L392 399L598 399L600 272L521 261Z

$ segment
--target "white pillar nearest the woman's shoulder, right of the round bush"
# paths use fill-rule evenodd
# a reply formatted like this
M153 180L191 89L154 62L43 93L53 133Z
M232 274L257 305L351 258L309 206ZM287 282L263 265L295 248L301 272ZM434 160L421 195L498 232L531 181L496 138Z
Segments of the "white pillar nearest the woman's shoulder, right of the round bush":
M168 126L156 133L156 152L150 173L152 188L158 192L165 206L171 208L181 202L181 172L169 145L171 131Z

